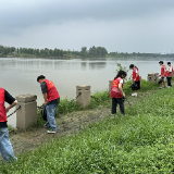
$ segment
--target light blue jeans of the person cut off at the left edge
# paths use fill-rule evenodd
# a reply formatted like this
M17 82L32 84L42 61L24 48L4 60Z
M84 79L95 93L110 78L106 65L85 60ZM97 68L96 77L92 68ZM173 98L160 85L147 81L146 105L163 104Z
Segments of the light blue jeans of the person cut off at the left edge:
M9 139L8 127L0 127L0 152L5 162L11 162L16 160L13 153L13 147Z

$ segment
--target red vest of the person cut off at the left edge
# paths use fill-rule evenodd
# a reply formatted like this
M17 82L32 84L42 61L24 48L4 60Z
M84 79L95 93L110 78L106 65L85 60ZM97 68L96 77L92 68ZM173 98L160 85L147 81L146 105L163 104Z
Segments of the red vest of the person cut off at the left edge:
M4 89L0 88L0 122L8 122L4 107Z

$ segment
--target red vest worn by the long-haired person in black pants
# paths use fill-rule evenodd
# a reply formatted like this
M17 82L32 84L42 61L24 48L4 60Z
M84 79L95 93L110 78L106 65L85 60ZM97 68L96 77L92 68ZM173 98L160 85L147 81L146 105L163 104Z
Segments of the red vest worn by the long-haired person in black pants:
M121 77L112 80L112 88L111 88L111 97L112 98L122 98L122 92L119 89L119 84L121 82ZM123 84L122 84L123 88Z

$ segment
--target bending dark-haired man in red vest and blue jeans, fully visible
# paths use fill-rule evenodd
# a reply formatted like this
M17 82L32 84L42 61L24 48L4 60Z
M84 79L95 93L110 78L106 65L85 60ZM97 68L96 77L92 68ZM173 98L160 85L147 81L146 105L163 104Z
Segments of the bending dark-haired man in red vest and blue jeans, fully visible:
M45 99L44 104L46 104L47 110L47 120L48 122L45 124L45 127L48 127L48 134L57 133L57 125L55 125L55 112L57 107L60 102L59 92L51 80L46 79L44 75L37 77L37 82L40 84L42 96Z

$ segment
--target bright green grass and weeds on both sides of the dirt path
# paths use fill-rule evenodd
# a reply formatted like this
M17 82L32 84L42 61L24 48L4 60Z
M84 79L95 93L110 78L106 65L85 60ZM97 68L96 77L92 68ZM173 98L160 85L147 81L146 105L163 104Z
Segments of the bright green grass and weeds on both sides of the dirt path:
M130 82L125 85L128 88ZM0 172L24 173L173 173L174 172L174 88L158 90L142 80L142 97L126 107L126 115L105 117L83 132L52 138L36 150L17 156L14 163L1 163ZM126 95L129 96L127 90ZM111 107L107 92L94 95L88 109ZM101 98L101 100L100 100ZM135 100L133 97L129 100ZM65 101L64 101L65 102ZM66 103L66 102L65 102ZM58 116L72 112L59 107ZM76 111L83 110L73 103Z

